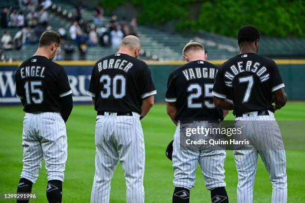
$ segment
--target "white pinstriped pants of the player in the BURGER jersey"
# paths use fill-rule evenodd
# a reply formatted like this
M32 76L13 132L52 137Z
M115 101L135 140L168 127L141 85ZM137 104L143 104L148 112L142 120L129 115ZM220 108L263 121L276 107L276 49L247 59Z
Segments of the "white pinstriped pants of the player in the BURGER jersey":
M110 182L120 161L127 203L144 203L145 146L140 115L98 115L95 129L95 176L91 203L109 203Z

